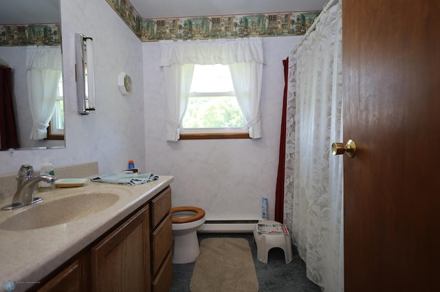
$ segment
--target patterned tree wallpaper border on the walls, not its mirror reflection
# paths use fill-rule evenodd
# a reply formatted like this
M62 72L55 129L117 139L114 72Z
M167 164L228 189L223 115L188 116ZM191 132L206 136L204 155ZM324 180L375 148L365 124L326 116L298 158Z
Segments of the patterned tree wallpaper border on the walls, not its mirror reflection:
M128 0L106 0L142 42L303 36L320 11L142 19Z

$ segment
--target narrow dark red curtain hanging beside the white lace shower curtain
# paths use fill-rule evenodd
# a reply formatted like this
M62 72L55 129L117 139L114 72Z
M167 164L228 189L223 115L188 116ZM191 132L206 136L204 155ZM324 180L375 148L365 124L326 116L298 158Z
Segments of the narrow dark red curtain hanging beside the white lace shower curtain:
M281 117L280 155L278 158L278 176L276 178L275 193L275 221L284 221L284 182L285 182L285 154L286 154L286 112L287 112L287 79L289 74L289 58L283 60L284 66L284 94L283 114Z

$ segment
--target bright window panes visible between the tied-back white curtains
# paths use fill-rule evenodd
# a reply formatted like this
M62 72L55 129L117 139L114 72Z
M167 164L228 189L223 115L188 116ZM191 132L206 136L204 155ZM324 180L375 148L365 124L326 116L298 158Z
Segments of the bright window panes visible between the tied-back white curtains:
M194 66L188 106L180 132L248 133L228 65Z

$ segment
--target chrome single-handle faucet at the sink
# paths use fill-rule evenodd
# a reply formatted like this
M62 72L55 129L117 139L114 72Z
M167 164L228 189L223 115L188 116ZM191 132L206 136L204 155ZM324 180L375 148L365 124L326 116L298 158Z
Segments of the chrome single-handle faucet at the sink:
M54 175L48 174L34 177L32 165L21 165L17 174L17 191L12 198L12 204L4 206L1 210L12 210L43 201L42 197L34 197L36 186L39 182L55 182L55 180Z

